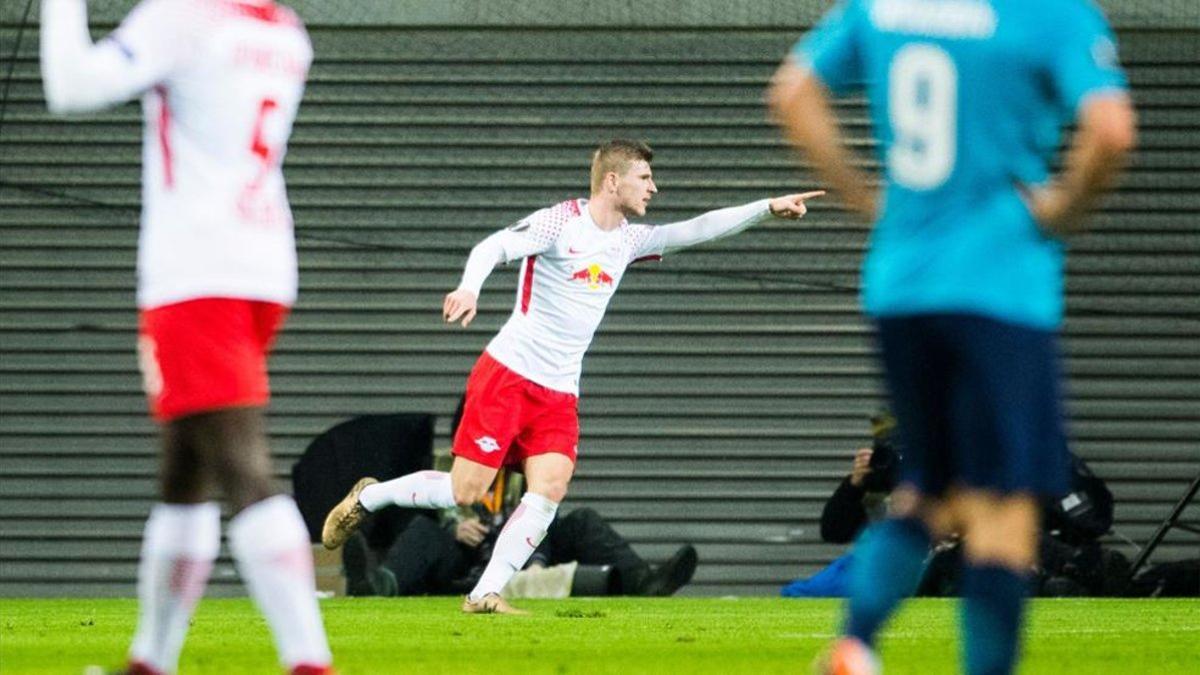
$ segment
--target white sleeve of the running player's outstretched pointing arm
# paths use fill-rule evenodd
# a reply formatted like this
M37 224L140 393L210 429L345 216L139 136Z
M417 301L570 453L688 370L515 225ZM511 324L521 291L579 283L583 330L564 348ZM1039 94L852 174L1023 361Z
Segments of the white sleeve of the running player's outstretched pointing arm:
M664 253L737 234L772 217L769 203L769 199L760 199L667 225L630 225L630 262L659 258Z

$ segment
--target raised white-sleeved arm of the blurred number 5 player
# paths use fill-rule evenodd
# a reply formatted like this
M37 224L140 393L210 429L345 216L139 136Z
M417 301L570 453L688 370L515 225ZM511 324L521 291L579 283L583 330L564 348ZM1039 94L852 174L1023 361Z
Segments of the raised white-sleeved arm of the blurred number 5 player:
M85 0L42 0L41 59L52 113L98 110L158 83L188 49L190 32L169 2L138 6L109 37L92 44Z

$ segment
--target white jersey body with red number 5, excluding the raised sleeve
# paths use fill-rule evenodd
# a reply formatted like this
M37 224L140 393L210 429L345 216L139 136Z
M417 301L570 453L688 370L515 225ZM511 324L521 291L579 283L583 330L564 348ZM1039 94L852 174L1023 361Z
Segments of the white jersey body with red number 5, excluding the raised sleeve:
M312 62L299 18L269 0L144 0L109 40L158 76L142 97L138 304L295 301L282 162Z

